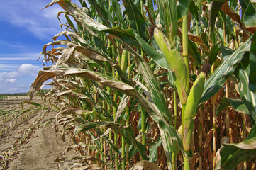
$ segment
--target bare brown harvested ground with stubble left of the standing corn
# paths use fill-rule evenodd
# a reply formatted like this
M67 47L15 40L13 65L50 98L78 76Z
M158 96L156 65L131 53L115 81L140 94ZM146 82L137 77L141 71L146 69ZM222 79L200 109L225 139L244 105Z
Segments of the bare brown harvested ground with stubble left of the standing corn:
M28 96L11 96L0 101L0 114L15 110L0 116L0 169L71 169L72 162L55 162L67 144L62 142L60 133L52 130L52 123L44 122L56 113L36 110L33 106L13 120L22 112L21 101L28 101ZM42 100L35 97L34 102ZM27 107L23 104L23 111Z

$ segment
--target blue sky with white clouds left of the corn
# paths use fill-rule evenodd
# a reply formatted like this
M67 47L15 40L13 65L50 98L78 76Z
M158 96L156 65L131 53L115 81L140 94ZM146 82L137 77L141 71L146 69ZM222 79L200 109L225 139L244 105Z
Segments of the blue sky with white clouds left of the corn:
M38 60L43 45L61 31L57 13L62 8L55 4L41 10L51 1L1 0L0 94L28 92L43 69Z

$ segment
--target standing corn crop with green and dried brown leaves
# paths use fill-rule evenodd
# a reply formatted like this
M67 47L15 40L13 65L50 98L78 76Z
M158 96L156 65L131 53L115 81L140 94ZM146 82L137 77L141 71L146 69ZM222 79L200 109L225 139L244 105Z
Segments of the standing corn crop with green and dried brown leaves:
M255 1L52 5L65 23L30 98L52 79L73 169L256 168Z

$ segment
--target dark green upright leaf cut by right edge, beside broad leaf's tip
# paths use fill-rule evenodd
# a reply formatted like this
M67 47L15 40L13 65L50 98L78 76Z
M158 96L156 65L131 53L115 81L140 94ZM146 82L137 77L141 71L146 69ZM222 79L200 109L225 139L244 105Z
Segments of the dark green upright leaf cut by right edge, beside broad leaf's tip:
M252 36L250 46L249 89L256 94L256 33Z

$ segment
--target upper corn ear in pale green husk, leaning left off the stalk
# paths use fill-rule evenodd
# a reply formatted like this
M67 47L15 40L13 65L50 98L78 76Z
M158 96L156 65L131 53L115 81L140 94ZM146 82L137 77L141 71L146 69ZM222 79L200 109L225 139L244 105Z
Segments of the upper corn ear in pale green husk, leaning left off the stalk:
M187 93L185 89L189 86L187 79L189 75L187 74L187 67L184 63L182 55L179 54L176 47L172 45L172 42L169 41L167 36L162 33L158 28L153 30L153 35L157 46L159 47L162 54L165 56L165 60L168 62L169 66L172 69L172 72L176 74L174 77L179 98L182 104L185 104L187 101ZM176 79L175 79L176 78Z

